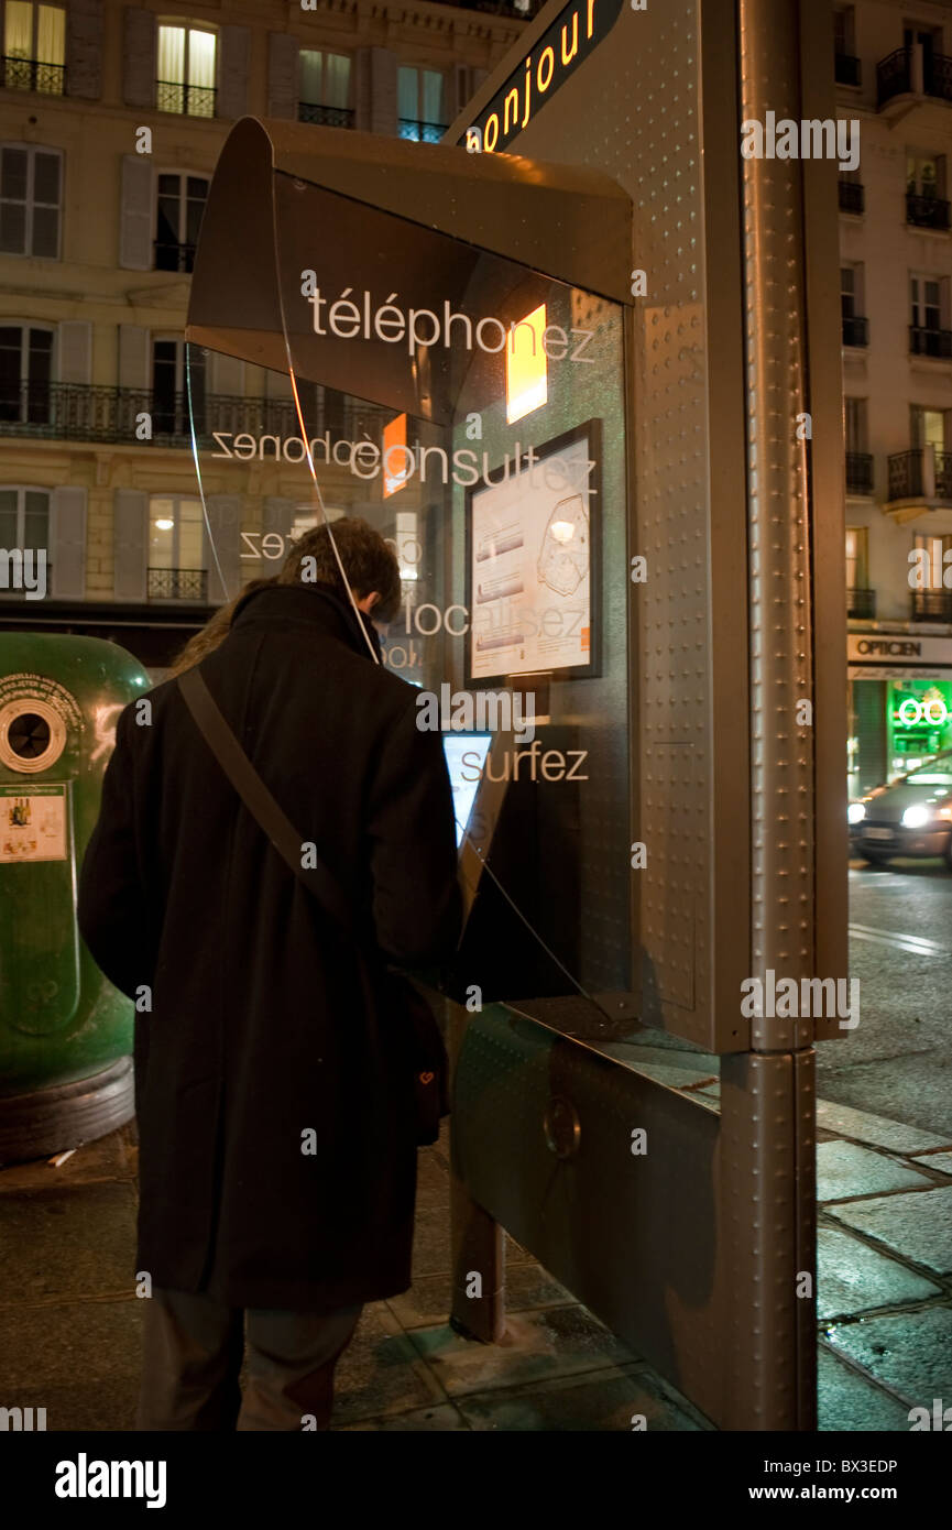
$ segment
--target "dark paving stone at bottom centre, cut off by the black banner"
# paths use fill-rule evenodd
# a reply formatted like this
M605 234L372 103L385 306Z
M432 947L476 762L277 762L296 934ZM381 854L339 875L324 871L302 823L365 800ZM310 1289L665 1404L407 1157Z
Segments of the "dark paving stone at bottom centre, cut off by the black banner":
M533 1388L476 1392L459 1400L470 1429L508 1434L632 1431L644 1417L647 1432L698 1432L699 1426L667 1397L647 1371L615 1366L582 1379L560 1377Z

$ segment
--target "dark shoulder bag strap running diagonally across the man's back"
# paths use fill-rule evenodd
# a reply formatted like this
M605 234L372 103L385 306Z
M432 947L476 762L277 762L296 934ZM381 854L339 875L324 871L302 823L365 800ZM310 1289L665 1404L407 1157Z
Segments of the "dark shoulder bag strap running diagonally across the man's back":
M302 866L305 842L245 754L199 670L190 669L179 675L178 687L199 733L251 817L265 831L297 880L323 904L337 924L354 936L354 915L343 887L320 858L315 866Z

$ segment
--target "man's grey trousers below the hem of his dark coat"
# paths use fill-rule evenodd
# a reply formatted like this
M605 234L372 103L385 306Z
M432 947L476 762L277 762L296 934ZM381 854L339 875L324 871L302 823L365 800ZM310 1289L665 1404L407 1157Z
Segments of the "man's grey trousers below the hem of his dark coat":
M144 1308L136 1429L331 1426L334 1368L354 1336L361 1305L332 1313L243 1311L207 1294L155 1290Z

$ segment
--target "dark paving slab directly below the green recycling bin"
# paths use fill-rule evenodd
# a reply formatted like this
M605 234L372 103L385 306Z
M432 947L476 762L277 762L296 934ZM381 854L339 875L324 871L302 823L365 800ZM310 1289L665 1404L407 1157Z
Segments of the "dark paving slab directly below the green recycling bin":
M0 1307L132 1294L136 1203L126 1181L0 1195Z

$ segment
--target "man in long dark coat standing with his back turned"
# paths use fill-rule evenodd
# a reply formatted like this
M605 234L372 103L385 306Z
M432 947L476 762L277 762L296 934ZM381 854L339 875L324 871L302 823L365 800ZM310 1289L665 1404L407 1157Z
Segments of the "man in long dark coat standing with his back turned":
M441 736L375 662L369 618L395 615L399 568L366 522L334 542L354 601L329 531L308 532L201 672L380 972L438 964L461 918ZM361 1305L410 1284L406 1014L242 805L178 684L145 701L119 718L78 901L138 1010L138 1427L328 1427Z

